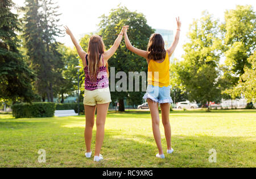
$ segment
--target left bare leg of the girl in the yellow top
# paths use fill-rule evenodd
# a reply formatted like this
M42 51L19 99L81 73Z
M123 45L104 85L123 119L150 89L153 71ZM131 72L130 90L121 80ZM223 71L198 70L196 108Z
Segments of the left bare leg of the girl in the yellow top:
M158 103L153 102L151 99L147 99L148 106L150 107L150 114L152 118L152 129L155 138L156 145L158 147L159 155L163 154L162 144L161 144L161 134L159 128L159 110Z

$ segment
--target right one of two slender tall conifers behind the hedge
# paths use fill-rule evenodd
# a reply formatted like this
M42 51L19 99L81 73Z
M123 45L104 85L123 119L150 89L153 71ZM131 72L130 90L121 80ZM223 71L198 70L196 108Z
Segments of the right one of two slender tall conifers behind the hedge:
M43 42L46 45L45 58L51 68L51 79L48 81L50 100L53 102L53 97L58 94L59 86L63 82L61 71L64 67L63 55L59 52L58 48L60 43L56 41L56 37L63 35L60 30L59 6L56 5L55 0L42 0L40 1L42 10L42 28L44 32Z

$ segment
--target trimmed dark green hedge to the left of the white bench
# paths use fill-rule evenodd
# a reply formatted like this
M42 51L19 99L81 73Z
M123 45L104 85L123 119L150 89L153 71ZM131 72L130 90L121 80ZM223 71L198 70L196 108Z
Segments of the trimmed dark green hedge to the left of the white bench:
M51 102L19 103L11 109L15 118L51 118L54 116L56 105Z

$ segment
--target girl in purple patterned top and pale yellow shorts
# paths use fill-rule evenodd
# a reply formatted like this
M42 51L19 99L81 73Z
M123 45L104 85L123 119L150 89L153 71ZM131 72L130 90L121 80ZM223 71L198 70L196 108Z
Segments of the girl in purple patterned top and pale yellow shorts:
M88 53L84 52L81 48L71 30L69 30L68 27L65 27L65 30L71 37L73 44L82 59L82 65L84 66L85 72L85 156L90 158L92 155L92 131L94 126L94 115L97 108L97 131L94 161L100 161L103 159L102 155L100 155L100 150L104 139L106 115L108 113L109 103L111 102L108 79L108 60L114 55L115 51L117 51L117 48L121 43L125 27L122 28L122 31L114 42L114 45L108 51L105 51L105 45L101 36L91 36L89 40Z

